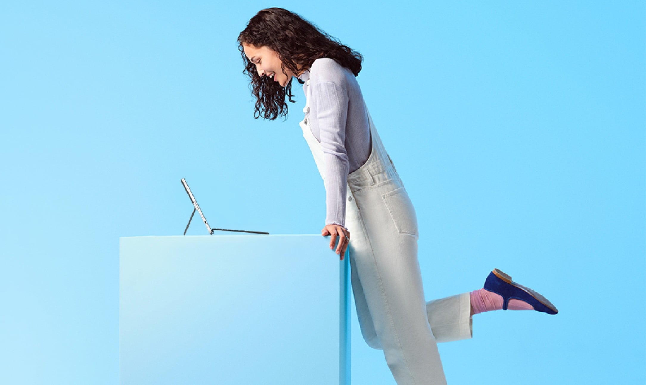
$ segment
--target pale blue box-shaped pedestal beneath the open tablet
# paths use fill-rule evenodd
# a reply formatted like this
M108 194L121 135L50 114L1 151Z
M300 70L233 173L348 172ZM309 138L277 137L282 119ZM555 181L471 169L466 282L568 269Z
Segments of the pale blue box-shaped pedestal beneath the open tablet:
M120 383L349 384L349 304L329 237L120 238Z

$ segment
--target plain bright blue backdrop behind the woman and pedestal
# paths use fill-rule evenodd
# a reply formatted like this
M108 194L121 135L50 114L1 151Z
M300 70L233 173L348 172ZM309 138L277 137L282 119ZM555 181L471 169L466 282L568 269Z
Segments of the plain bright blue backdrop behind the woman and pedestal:
M475 315L474 338L440 344L450 384L645 381L643 1L13 1L0 383L118 382L119 237L182 234L181 178L213 227L320 234L302 88L287 120L255 120L242 74L236 37L267 6L365 56L426 298L479 289L497 267L559 308ZM358 331L353 319L353 382L394 384Z

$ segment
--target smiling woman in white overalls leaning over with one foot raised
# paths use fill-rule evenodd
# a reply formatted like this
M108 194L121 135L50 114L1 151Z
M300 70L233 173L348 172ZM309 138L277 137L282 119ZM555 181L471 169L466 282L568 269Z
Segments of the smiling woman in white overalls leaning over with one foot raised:
M417 259L417 217L357 83L362 56L302 17L267 8L238 37L256 110L287 113L291 80L303 84L300 122L326 187L330 248L349 251L361 333L382 349L397 384L446 384L437 342L472 337L472 315L557 309L494 269L483 289L426 302ZM257 118L257 117L256 117ZM338 240L338 243L337 243Z

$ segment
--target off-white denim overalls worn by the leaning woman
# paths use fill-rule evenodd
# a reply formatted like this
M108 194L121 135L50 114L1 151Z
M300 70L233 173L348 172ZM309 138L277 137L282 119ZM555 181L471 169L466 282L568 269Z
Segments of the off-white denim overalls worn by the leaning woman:
M308 122L309 79L305 84L300 127L325 179L322 147ZM397 384L446 384L437 342L472 337L469 293L424 300L415 209L370 112L368 121L370 157L348 175L346 197L350 280L361 333L368 346L384 351Z

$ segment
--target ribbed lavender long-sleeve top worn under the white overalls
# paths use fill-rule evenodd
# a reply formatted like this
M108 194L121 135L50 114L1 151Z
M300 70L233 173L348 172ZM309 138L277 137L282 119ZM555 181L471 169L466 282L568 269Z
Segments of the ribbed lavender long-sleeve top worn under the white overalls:
M303 85L309 92L309 127L323 150L326 225L345 227L348 174L366 163L371 151L361 88L349 68L329 57L316 59L298 79L309 79L309 86Z

